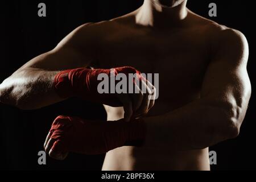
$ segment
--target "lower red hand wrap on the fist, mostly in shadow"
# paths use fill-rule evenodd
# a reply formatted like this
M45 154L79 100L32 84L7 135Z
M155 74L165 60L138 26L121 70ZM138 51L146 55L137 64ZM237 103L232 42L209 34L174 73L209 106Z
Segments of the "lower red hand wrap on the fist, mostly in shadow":
M146 125L143 121L91 122L59 116L52 123L50 135L56 140L51 148L56 153L97 155L122 146L142 146Z

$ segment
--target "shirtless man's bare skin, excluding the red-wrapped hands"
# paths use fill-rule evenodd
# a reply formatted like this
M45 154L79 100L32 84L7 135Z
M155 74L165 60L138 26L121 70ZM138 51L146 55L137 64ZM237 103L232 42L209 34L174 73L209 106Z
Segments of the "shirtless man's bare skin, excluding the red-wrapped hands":
M141 111L144 145L109 151L102 169L209 170L208 147L240 133L251 95L249 48L241 32L196 15L186 4L144 0L130 14L80 26L7 78L1 102L38 109L61 101L52 82L65 69L129 65L159 73L159 98ZM108 121L132 114L127 107L125 113L123 107L105 109Z

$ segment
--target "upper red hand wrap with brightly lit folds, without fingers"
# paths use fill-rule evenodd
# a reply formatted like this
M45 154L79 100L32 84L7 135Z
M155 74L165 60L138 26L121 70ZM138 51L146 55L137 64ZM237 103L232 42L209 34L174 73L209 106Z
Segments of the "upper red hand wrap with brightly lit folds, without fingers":
M126 76L129 73L137 73L138 77L141 78L141 73L132 67L114 68L113 70L114 76L119 73L124 73ZM117 98L117 94L98 93L98 84L101 82L97 80L98 75L105 73L110 78L110 76L113 76L110 71L110 69L85 68L63 71L55 76L54 86L57 94L61 98L76 96L87 101L98 102L113 107L122 106Z

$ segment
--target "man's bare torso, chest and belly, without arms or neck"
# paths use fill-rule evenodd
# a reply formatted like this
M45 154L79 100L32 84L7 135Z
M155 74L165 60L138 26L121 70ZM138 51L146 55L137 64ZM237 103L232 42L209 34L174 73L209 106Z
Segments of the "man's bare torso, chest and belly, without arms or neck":
M165 114L200 98L201 83L209 63L212 22L189 13L188 23L168 30L138 26L132 16L99 26L108 32L99 44L99 68L126 65L142 73L159 73L159 98L148 116ZM122 107L105 106L105 109L108 121L123 118ZM172 151L121 147L106 154L102 169L209 170L208 148Z

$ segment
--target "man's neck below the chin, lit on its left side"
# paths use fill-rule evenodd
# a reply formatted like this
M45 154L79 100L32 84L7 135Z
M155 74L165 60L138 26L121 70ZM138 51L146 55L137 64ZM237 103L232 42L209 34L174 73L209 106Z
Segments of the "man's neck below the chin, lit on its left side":
M163 7L152 0L144 0L142 7L137 11L136 23L150 27L179 26L187 17L187 0L175 7Z

